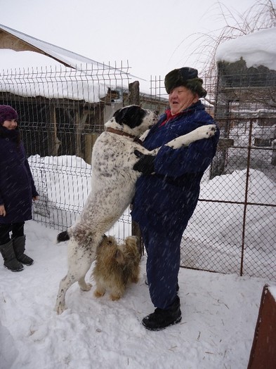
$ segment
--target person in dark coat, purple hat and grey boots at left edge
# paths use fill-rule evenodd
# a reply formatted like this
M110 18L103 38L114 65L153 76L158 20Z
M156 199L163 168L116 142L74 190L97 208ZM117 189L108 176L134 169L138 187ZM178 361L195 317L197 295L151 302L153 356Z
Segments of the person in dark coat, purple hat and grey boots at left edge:
M32 219L32 200L39 198L17 121L16 110L0 105L0 252L10 271L34 262L24 254L24 224Z

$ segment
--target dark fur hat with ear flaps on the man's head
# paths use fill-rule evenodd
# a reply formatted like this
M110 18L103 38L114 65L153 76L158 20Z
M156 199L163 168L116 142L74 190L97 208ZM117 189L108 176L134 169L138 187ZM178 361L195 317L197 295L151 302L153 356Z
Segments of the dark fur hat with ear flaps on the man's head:
M206 96L207 91L202 87L203 80L197 76L197 70L190 67L174 69L165 77L166 93L179 86L185 86L192 92L197 93L199 98Z

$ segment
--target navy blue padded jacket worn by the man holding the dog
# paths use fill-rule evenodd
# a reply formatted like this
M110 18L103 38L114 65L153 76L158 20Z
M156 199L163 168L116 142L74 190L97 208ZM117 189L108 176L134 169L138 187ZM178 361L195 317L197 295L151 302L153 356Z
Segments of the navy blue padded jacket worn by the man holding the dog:
M184 231L197 205L202 175L216 154L219 131L212 138L173 150L164 144L197 127L216 123L200 101L160 127L165 120L166 114L143 143L149 150L162 148L155 158L155 174L142 175L136 182L131 215L140 226L176 226Z

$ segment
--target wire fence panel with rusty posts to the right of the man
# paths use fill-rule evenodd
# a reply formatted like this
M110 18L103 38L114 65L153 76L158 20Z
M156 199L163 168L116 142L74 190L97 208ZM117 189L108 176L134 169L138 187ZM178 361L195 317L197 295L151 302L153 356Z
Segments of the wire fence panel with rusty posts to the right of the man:
M221 140L181 260L188 268L276 280L275 76L263 68L250 73L224 65L216 85L206 86Z

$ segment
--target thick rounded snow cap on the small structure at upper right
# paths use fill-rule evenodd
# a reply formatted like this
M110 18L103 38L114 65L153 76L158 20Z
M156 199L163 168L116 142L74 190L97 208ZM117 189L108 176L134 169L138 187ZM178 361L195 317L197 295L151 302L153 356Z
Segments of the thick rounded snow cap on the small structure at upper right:
M225 41L217 48L216 62L235 63L240 58L247 67L263 65L276 70L276 27Z

